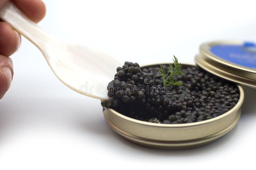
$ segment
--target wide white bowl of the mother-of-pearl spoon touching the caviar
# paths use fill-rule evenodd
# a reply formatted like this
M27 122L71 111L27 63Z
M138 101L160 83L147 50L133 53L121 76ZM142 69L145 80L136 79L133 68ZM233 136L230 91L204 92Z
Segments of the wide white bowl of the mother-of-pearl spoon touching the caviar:
M54 41L43 54L54 74L70 89L100 100L109 98L107 86L120 66L117 60L99 50L60 41Z

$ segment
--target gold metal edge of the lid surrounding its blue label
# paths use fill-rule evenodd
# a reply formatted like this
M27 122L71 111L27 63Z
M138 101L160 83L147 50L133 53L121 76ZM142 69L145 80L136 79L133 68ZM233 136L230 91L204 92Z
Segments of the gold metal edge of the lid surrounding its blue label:
M195 58L196 64L204 70L228 81L256 88L256 69L234 64L214 55L211 47L216 45L242 45L242 41L214 41L204 43ZM256 55L255 55L256 56Z

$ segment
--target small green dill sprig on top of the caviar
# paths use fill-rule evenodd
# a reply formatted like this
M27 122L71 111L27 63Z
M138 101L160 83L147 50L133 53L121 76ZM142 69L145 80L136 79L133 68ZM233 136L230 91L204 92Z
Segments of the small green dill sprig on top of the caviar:
M163 77L164 87L168 85L177 85L177 86L183 85L183 83L178 82L177 80L174 80L174 78L172 77L172 76L183 73L182 71L180 71L181 64L178 62L178 59L174 55L173 57L174 59L172 60L173 60L174 67L172 66L172 64L169 64L169 71L167 73L163 66L160 65L160 68L159 68L159 73Z

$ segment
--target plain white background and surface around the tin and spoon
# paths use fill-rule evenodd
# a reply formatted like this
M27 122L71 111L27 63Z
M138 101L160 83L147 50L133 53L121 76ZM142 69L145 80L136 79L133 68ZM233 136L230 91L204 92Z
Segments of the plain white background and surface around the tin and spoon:
M256 41L253 1L45 0L40 27L121 62L194 63L201 43ZM214 143L169 151L135 145L111 130L100 101L62 84L24 37L12 86L0 100L0 169L215 169L255 165L255 89L245 88L237 126Z

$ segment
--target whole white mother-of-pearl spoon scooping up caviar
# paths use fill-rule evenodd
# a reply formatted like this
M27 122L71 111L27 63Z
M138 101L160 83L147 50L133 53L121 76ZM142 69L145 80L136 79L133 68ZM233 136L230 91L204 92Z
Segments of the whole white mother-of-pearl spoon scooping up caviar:
M0 10L0 18L39 48L62 83L83 95L108 99L106 87L120 62L99 50L49 36L12 2Z

